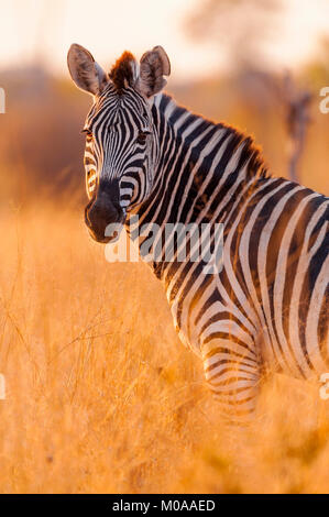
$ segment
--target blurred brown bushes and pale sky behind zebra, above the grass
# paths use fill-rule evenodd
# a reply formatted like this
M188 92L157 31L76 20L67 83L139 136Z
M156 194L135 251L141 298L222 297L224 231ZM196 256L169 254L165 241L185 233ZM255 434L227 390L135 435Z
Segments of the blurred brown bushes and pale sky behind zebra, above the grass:
M22 200L47 189L79 191L79 134L90 99L66 68L73 42L105 69L124 50L139 58L162 44L172 61L167 90L194 111L238 125L263 146L270 169L288 172L286 76L295 99L311 95L299 178L328 194L329 117L319 91L329 84L329 2L168 0L0 2L1 193Z

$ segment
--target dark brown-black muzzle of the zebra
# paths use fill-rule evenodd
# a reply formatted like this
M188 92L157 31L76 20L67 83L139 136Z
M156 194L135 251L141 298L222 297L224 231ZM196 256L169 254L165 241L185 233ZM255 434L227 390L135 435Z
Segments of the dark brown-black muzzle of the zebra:
M111 199L108 188L99 188L96 198L87 205L85 221L96 241L109 242L113 239L109 230L106 235L106 229L109 224L122 223L123 211L119 202Z

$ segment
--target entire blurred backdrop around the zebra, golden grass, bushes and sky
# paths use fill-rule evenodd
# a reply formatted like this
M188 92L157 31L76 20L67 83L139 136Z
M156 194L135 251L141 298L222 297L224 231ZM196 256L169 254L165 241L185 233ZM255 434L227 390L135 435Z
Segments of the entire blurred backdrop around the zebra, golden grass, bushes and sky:
M88 238L90 98L66 68L73 42L106 69L161 44L167 91L252 134L276 176L305 98L298 179L328 195L328 20L327 0L0 0L1 492L329 492L317 386L268 382L226 435L161 285Z

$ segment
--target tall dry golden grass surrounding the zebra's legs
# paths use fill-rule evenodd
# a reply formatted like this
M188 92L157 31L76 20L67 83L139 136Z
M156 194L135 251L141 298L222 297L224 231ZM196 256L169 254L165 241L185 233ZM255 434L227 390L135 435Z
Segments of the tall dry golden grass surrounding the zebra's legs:
M107 263L64 207L3 211L0 232L1 492L328 492L316 386L268 381L228 431L145 265Z

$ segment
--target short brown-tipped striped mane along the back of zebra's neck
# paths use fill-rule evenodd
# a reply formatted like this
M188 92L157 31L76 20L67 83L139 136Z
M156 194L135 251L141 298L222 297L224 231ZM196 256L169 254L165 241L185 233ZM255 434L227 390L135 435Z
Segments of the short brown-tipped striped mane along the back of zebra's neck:
M220 132L224 130L227 138L230 136L230 143L228 147L231 155L233 155L238 147L242 146L240 161L241 163L248 163L246 177L271 177L262 155L262 148L261 146L255 144L254 139L252 136L246 135L242 131L239 131L238 129L224 122L216 123L200 114L193 113L187 108L178 106L174 101L174 99L167 94L162 94L158 97L161 97L161 100L157 101L158 108L168 113L167 119L174 127L176 125L176 121L178 121L180 118L184 118L184 127L188 127L198 119L201 120L199 127L202 131L205 131L209 127L218 128L218 131ZM185 140L188 142L188 136ZM193 140L190 141L190 143L193 144ZM221 139L219 140L217 146L218 151L220 151L222 146ZM212 153L213 152L216 152L216 146L212 148Z

